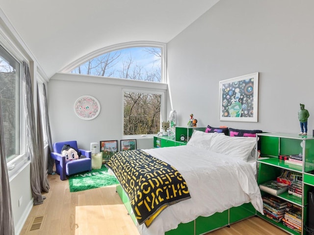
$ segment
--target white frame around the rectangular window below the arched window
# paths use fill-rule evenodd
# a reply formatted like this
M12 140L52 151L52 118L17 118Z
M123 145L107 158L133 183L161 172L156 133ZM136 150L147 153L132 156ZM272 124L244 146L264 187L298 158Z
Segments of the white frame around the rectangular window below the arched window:
M156 136L156 134L139 134L139 135L125 135L124 134L124 93L125 92L131 92L131 93L146 93L146 94L160 94L160 124L159 126L161 127L161 122L165 120L166 118L166 91L161 91L157 89L148 89L148 88L140 88L137 87L136 89L131 89L131 88L122 88L122 104L121 104L121 109L122 109L122 138L123 139L128 139L128 138L134 138L138 139L139 137L153 137ZM160 131L160 129L159 129Z

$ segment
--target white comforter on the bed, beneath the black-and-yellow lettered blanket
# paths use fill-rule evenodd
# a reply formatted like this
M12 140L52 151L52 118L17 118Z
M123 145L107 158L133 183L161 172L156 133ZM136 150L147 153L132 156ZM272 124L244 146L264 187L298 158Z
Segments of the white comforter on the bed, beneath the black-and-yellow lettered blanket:
M144 151L177 168L187 183L191 198L166 208L149 228L145 224L137 225L140 234L164 235L180 223L248 202L262 213L253 158L244 162L189 145Z

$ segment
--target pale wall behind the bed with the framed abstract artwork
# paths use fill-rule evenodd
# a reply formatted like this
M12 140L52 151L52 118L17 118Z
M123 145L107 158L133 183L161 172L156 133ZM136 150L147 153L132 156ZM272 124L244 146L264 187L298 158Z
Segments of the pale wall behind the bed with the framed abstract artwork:
M314 129L313 0L220 0L168 45L179 124L299 133L304 103ZM219 81L259 72L258 122L219 121Z

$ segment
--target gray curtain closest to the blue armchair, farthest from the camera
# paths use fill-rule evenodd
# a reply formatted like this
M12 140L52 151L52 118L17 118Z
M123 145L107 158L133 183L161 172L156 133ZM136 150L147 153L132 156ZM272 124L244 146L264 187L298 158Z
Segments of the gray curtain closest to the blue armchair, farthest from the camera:
M46 134L47 134L47 141L48 141L48 174L52 174L52 168L54 164L53 158L50 156L50 153L52 152L52 141L51 141L51 130L50 130L50 121L49 121L49 115L48 115L48 103L47 103L47 92L46 92L46 86L43 84L43 103L44 103L44 109L45 109L45 126L46 126Z

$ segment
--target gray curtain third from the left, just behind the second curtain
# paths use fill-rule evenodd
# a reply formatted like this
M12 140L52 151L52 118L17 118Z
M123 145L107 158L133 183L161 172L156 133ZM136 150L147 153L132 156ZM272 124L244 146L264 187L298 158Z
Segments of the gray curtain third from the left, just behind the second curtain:
M44 151L44 133L43 125L41 119L41 110L40 110L40 97L37 84L37 143L38 143L38 166L40 174L40 186L41 190L49 192L49 181L47 178L47 167L45 165L45 151ZM50 158L50 157L48 157Z

